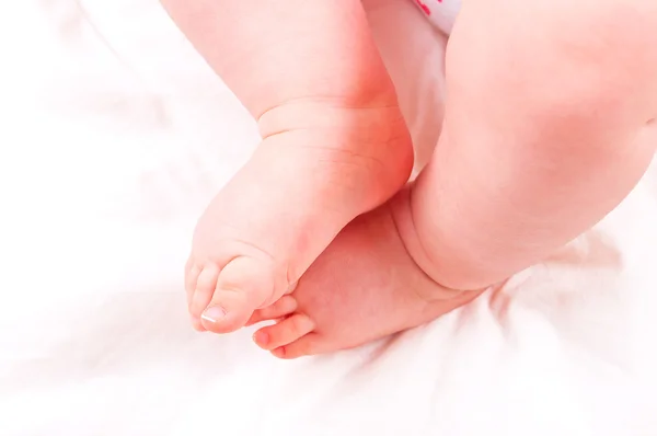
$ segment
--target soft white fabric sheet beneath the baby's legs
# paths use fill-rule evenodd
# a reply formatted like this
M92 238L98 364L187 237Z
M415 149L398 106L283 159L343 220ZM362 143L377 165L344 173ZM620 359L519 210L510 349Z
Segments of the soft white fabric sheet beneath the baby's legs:
M278 362L187 323L195 218L257 142L155 0L0 15L0 435L655 435L657 177L502 291ZM443 38L370 18L420 161ZM403 35L403 36L402 36Z

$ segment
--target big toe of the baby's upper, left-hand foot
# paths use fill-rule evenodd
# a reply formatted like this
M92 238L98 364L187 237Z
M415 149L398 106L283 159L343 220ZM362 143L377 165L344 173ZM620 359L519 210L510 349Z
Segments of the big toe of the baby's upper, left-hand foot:
M274 297L274 285L268 265L237 257L219 273L211 301L200 315L203 326L215 333L241 329L257 308Z

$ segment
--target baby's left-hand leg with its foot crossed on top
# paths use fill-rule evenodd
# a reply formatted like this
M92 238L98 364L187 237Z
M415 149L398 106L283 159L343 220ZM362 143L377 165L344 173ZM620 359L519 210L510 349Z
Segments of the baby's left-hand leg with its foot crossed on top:
M413 150L359 0L162 3L263 138L199 219L186 268L195 326L226 333L394 195Z

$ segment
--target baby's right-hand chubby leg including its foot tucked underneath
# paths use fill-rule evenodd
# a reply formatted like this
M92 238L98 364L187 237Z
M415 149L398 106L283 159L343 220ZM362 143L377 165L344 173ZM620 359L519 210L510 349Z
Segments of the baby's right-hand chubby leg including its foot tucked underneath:
M517 8L466 3L431 162L410 190L337 237L299 282L297 308L256 332L263 348L321 354L429 321L479 295L451 289L484 288L539 262L641 179L657 146L657 9L507 3ZM620 13L642 26L641 38L600 44ZM505 33L522 24L522 38Z

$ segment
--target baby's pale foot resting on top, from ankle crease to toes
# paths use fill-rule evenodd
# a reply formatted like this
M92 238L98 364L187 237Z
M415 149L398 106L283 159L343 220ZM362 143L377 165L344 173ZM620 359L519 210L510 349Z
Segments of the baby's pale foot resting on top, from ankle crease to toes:
M185 287L197 330L243 326L411 171L413 150L396 104L290 103L266 113L260 126L265 139L195 230Z

